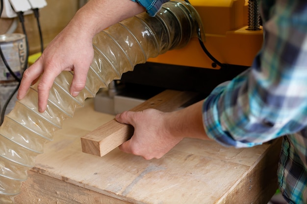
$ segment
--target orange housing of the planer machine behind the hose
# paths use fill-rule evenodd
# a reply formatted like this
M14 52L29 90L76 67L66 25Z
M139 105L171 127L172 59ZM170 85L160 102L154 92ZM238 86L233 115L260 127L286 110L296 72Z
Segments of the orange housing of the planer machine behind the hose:
M189 0L199 12L204 27L204 44L219 62L251 66L263 42L263 31L248 27L248 0ZM213 68L212 61L202 50L198 39L188 45L170 50L148 62ZM215 69L218 69L216 67Z

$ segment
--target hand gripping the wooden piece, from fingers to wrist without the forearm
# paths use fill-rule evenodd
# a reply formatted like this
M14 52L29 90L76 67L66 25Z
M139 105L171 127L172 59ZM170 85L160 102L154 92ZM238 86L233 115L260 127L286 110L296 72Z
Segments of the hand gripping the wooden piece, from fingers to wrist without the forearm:
M120 150L142 156L144 159L161 158L183 138L168 131L168 114L147 109L116 115L118 122L134 127L133 136L119 146Z

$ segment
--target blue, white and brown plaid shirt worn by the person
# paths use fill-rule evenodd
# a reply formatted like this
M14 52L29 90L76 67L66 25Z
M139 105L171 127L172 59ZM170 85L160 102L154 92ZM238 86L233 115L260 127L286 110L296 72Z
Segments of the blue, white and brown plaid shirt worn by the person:
M152 16L161 1L137 0ZM283 136L279 187L307 203L307 0L259 0L265 33L251 68L216 87L203 105L207 135L252 147Z

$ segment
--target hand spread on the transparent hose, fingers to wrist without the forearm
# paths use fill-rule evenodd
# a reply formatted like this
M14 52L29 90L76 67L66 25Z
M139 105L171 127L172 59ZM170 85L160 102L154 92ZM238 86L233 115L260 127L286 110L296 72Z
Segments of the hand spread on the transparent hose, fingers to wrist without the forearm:
M70 92L77 96L85 86L87 71L93 57L92 38L77 33L74 35L74 32L66 27L45 49L42 56L26 69L18 91L18 99L24 98L33 81L41 76L38 82L38 107L39 112L44 112L53 81L63 70L74 71Z

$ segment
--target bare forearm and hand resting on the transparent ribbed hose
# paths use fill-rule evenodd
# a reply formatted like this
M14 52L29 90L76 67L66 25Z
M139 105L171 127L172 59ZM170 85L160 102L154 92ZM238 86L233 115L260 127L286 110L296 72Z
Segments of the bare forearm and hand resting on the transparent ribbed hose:
M17 98L23 99L31 84L40 77L38 110L44 112L54 79L63 70L74 71L70 93L77 96L85 86L93 61L93 37L103 29L144 11L144 7L131 0L88 1L48 45L37 62L25 71Z

